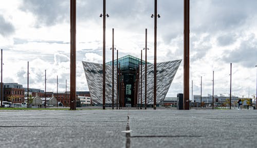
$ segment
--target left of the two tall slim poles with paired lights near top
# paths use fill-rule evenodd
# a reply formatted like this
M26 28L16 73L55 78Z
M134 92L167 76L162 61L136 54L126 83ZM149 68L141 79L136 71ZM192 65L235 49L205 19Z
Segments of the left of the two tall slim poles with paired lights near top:
M103 17L103 110L105 110L105 16L109 17L105 14L105 0L103 0L103 14L100 14L100 17Z

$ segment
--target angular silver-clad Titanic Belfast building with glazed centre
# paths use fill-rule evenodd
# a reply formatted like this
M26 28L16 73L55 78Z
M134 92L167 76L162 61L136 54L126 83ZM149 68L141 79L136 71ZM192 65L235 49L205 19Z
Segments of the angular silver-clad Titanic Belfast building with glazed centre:
M171 82L180 65L180 60L157 63L156 73L156 104L158 105L166 96ZM82 61L86 75L91 100L94 104L103 103L103 65ZM105 67L105 104L112 105L113 98L113 66L112 61ZM154 103L154 65L147 63L146 68L146 104ZM142 88L142 89L141 89ZM117 97L118 96L118 97ZM142 100L141 100L142 98ZM118 101L117 101L118 99ZM144 107L145 100L145 62L131 55L126 55L114 60L114 106L136 107L141 104ZM118 102L118 103L117 103Z

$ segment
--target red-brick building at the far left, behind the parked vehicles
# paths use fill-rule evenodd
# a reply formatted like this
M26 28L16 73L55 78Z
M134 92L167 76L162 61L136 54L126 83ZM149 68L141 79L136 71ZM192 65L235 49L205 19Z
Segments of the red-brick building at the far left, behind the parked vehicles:
M4 83L4 101L22 103L24 102L24 91L22 84Z

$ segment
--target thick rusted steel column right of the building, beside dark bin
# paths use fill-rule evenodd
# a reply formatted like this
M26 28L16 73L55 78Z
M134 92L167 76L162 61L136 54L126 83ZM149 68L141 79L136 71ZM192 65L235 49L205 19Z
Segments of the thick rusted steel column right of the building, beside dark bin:
M189 0L184 0L184 110L189 110L189 8Z

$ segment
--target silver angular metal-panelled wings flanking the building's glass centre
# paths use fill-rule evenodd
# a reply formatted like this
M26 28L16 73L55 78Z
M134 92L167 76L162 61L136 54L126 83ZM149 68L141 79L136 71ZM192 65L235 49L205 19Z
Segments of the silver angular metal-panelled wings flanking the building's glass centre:
M157 63L157 96L156 103L159 104L162 101L169 88L171 82L177 72L177 69L181 63L181 60L167 61ZM95 104L102 104L102 64L96 64L93 62L82 61L85 71L90 96ZM144 104L144 86L145 86L145 66L142 66L142 103ZM141 72L141 70L140 70ZM141 79L141 78L139 78ZM106 91L105 91L105 103L112 103L112 66L106 65ZM154 65L147 65L147 104L153 104L153 89L154 89ZM141 82L139 82L139 88ZM141 90L139 90L141 92ZM117 98L117 67L114 67L114 102L116 104ZM141 96L138 95L140 98ZM141 100L140 100L141 101Z

